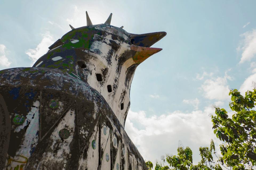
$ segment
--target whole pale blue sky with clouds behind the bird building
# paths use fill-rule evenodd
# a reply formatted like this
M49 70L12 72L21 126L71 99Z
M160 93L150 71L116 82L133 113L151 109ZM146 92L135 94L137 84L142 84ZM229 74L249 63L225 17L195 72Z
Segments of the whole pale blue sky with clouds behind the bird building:
M213 105L229 115L230 89L256 82L256 1L0 1L0 70L31 67L73 27L106 21L130 33L165 31L133 78L125 130L145 160L214 139Z

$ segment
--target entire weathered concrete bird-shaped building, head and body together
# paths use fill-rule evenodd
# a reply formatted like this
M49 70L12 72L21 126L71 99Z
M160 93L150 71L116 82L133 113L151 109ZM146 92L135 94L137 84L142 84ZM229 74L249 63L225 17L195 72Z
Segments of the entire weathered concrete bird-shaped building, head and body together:
M135 35L110 20L71 27L33 67L0 71L4 169L146 169L124 125L134 71L166 33Z

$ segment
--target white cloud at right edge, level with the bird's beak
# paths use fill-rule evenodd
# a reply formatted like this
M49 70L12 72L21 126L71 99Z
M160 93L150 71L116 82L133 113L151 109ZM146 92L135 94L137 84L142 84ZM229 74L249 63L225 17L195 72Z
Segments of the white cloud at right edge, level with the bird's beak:
M240 36L243 37L243 40L237 50L242 51L242 57L239 63L243 63L250 61L256 54L256 30L247 31Z

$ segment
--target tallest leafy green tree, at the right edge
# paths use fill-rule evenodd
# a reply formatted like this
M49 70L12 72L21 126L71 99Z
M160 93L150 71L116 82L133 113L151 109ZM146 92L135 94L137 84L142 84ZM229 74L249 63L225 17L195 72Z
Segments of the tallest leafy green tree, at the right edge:
M256 101L256 89L247 91L245 97L236 89L230 90L229 103L233 114L228 117L225 109L215 108L216 116L212 116L214 134L224 141L220 145L223 162L233 169L253 168L256 164L256 111L252 110Z

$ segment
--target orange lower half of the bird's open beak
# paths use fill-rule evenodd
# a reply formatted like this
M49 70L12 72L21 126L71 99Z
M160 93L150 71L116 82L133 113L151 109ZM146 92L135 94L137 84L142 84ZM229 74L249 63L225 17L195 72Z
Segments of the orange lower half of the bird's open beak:
M151 47L142 47L142 46L131 45L131 50L136 52L133 56L133 61L136 64L140 64L143 61L145 61L147 58L152 56L153 54L161 51L162 48L151 48Z

